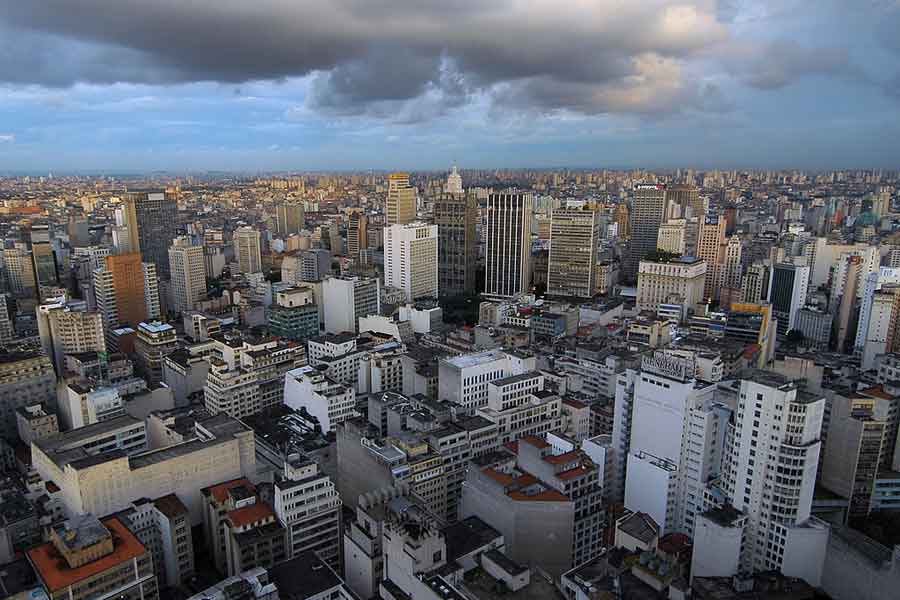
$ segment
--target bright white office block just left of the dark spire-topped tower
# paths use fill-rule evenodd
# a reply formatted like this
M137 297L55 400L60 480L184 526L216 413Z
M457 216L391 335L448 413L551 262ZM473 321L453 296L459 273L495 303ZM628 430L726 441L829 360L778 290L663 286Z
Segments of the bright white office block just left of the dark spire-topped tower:
M384 284L403 290L407 302L438 297L437 232L418 222L384 230Z

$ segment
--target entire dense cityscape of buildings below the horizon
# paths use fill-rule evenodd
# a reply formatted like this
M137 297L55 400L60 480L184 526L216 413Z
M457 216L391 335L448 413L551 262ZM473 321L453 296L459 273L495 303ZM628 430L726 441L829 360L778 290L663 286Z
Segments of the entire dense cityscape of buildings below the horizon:
M893 598L900 173L0 180L12 598Z

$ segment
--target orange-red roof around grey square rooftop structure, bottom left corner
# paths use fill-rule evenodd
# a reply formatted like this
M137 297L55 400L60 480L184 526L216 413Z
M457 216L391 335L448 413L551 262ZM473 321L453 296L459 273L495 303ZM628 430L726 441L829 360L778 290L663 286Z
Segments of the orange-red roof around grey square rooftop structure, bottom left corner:
M106 519L103 524L113 534L112 553L78 568L70 569L66 560L50 542L28 550L31 564L51 593L55 594L74 583L98 575L146 552L143 544L117 518Z

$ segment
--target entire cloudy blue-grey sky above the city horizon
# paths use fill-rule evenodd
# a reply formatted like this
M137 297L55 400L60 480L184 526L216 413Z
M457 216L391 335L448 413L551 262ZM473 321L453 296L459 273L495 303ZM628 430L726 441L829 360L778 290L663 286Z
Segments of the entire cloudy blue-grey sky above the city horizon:
M900 0L0 0L0 172L900 167Z

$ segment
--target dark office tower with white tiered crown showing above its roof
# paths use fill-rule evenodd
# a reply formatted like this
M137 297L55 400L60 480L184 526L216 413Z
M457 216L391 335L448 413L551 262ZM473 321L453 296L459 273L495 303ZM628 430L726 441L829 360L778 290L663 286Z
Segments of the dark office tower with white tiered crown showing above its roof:
M460 191L454 191L457 188ZM457 182L448 177L444 193L434 202L434 224L438 227L438 288L444 296L475 292L477 223L478 200L474 192L463 192L462 180Z

